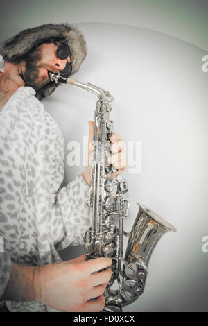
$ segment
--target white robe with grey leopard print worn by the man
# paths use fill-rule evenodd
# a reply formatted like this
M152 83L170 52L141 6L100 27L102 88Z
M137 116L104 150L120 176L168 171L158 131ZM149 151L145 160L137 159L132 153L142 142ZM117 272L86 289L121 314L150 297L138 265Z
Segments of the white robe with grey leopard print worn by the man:
M57 250L83 243L92 222L89 186L78 175L60 188L63 178L62 132L35 90L20 87L0 112L0 234L12 261L59 262ZM37 302L6 304L10 311L53 310Z

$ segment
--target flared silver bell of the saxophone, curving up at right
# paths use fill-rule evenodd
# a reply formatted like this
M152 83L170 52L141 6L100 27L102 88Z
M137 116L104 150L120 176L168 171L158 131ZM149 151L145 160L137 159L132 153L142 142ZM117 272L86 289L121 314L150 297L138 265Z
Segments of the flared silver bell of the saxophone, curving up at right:
M122 289L125 295L123 306L137 300L144 292L148 274L148 261L161 237L169 231L177 232L175 227L161 216L141 203L135 223L128 236L128 245L123 265ZM133 283L132 283L133 281ZM134 283L135 282L135 283Z

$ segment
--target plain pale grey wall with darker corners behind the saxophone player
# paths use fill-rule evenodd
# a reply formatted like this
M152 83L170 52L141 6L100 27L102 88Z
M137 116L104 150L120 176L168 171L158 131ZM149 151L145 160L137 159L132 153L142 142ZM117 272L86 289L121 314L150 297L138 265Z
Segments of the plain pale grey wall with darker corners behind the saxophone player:
M208 311L207 222L207 1L1 1L0 40L49 22L75 24L88 55L76 74L114 96L116 131L141 141L141 173L125 172L130 230L137 204L148 205L178 232L168 233L150 259L144 294L124 311ZM96 98L62 85L45 108L64 138L88 135ZM67 155L67 148L66 148ZM83 171L66 166L64 182ZM81 255L83 247L62 252Z

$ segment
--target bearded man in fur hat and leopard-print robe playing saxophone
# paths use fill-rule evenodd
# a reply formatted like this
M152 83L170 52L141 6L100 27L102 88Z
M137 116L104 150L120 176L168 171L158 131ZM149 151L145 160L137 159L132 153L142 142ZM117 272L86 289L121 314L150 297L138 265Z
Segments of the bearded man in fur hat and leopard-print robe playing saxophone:
M64 141L39 101L57 87L48 71L74 74L86 53L83 35L69 24L21 31L0 47L5 62L0 74L0 298L10 311L101 311L105 306L112 260L85 261L83 255L62 262L58 255L70 244L83 243L92 223L85 205L89 164L60 188ZM90 121L89 144L92 130ZM123 141L118 134L111 141L108 160L120 173Z

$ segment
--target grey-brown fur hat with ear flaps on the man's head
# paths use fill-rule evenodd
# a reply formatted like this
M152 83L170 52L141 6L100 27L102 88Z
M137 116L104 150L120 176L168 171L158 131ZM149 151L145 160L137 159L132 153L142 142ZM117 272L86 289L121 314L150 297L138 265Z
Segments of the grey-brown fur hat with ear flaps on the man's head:
M14 62L26 55L31 49L50 38L66 40L71 51L71 74L76 73L87 55L87 47L83 35L70 24L44 24L28 28L0 44L0 55L7 62ZM36 97L40 100L50 95L60 83L49 82L40 89Z

